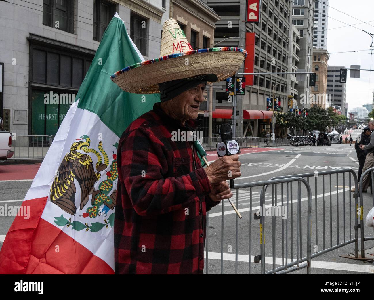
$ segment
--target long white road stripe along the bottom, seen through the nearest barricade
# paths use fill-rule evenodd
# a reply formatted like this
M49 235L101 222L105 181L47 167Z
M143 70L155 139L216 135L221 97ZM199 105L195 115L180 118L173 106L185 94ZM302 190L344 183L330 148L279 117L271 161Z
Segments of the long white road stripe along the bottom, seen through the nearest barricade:
M209 259L221 260L221 253L219 252L208 252L208 254ZM206 258L206 251L204 252L204 258ZM235 254L224 253L223 260L235 261ZM249 255L238 254L237 260L248 263ZM288 261L291 261L291 258L289 258ZM251 255L251 262L254 262L254 255ZM273 258L266 256L265 263L272 264ZM276 257L275 264L282 266L282 258ZM310 263L310 267L313 269L344 270L351 272L374 273L374 266L365 266L362 264L334 263L332 261L312 260Z

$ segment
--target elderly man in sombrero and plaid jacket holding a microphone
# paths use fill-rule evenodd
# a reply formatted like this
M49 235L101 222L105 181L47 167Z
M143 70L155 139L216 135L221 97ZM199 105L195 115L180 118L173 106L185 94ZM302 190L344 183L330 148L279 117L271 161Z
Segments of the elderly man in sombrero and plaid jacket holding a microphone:
M234 47L193 50L171 18L159 58L111 76L126 92L160 93L161 100L119 141L117 274L203 273L206 212L233 195L227 180L240 177L240 162L238 155L224 156L203 168L193 138L183 137L202 122L197 117L206 84L235 74L245 57Z

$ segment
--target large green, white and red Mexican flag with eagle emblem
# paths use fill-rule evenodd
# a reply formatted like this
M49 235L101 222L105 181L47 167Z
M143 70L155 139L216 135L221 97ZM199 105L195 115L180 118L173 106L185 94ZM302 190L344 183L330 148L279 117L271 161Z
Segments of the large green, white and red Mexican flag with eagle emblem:
M110 76L140 61L116 13L22 202L30 217L17 216L6 235L0 273L114 273L118 141L160 100L124 92Z

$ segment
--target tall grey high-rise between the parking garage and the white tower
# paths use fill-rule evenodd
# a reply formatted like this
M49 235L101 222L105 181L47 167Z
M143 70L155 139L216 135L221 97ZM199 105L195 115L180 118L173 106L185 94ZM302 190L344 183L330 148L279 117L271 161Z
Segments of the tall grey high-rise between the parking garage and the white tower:
M292 24L300 32L300 46L298 62L299 72L310 72L312 69L313 53L313 25L314 25L314 6L315 0L293 0L292 2ZM299 108L308 108L308 103L301 103L301 99L309 99L309 74L297 75L298 95L295 99L299 102Z

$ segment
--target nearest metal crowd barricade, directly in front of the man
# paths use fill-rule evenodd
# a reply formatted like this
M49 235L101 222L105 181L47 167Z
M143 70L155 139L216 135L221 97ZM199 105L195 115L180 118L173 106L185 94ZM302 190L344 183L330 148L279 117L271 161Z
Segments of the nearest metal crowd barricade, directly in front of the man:
M297 186L297 193L298 195L301 195L301 183L304 184L304 186L306 187L306 192L307 192L307 203L306 203L306 208L303 210L302 207L301 207L301 197L299 197L297 200L292 200L292 183L296 182L298 184ZM284 199L283 197L283 184L287 184L287 192L286 192L286 199ZM281 199L279 198L279 200L281 200L280 202L278 201L278 197L277 197L277 187L279 184L282 184L282 196L281 196ZM282 204L281 206L281 210L282 208L284 209L287 209L287 215L286 215L286 219L283 220L282 217L276 217L276 216L272 216L272 226L269 226L269 230L267 229L267 222L266 220L270 220L269 217L267 217L266 215L264 215L264 211L262 211L262 214L260 213L260 216L257 216L257 214L252 214L252 212L257 212L258 209L260 209L260 207L263 207L266 209L266 206L254 206L256 203L259 203L258 201L255 201L256 200L256 197L258 198L259 197L259 193L257 192L254 192L253 189L255 187L258 187L258 188L262 188L263 190L265 189L266 186L272 186L272 190L274 192L274 188L275 188L275 195L273 193L272 195L272 206L278 206L278 204ZM288 192L288 189L290 187L290 191L291 193ZM244 191L244 189L249 189ZM239 208L239 191L242 191L244 193L247 193L247 195L249 194L249 208L246 208L244 211L249 211L249 219L248 220L248 228L245 228L244 232L245 232L245 235L248 234L248 262L249 265L248 265L248 273L251 274L252 273L252 258L254 260L255 263L259 263L261 261L261 265L260 267L256 267L255 264L254 265L254 270L257 270L258 273L261 273L261 274L269 274L269 273L288 273L288 272L291 272L293 270L297 270L297 269L302 269L302 268L306 268L307 269L307 274L310 273L310 258L311 258L311 247L310 247L310 242L311 242L311 232L310 232L310 226L308 226L308 224L311 223L311 213L312 213L312 202L311 202L311 189L310 189L310 186L309 184L307 183L307 181L304 179L304 178L300 178L300 177L293 177L293 178L285 178L285 179L278 179L278 180L267 180L267 181L260 181L260 182L254 182L254 183L243 183L243 184L236 184L234 189L233 189L233 193L236 194L236 206ZM257 196L254 196L255 194L257 193ZM270 199L267 199L267 200L270 200ZM293 224L292 222L294 221L293 220L293 202L299 204L299 205L296 205L297 207L297 234L295 236L295 238L297 238L297 241L293 241L294 239L294 235L293 235ZM262 202L264 203L264 202ZM261 204L261 203L260 203ZM291 213L289 213L289 210L288 210L288 205L291 205ZM227 214L228 211L225 211L224 210L224 201L222 201L220 203L221 205L221 213L219 214L218 212L208 212L207 213L207 230L206 230L206 244L205 244L205 248L206 248L206 252L205 252L205 258L206 258L206 263L205 263L205 272L206 274L209 273L209 270L210 270L210 266L211 266L211 263L209 263L209 251L210 249L214 249L217 251L219 248L220 248L220 262L221 262L221 265L220 265L220 272L221 274L224 273L224 257L226 255L230 255L230 254L227 254L225 253L226 251L224 251L224 239L225 239L225 235L224 235L224 232L225 232L225 227L227 228L227 224L225 226L225 215ZM269 208L269 206L267 206ZM287 208L285 208L287 207ZM274 212L276 211L277 209L274 209ZM240 209L239 209L240 211ZM242 210L243 211L243 210ZM277 210L279 212L279 210ZM215 241L214 242L210 242L209 241L209 215L211 214L214 214L212 215L212 217L218 217L219 215L221 215L221 241L220 241L220 245L218 244L218 241ZM302 220L303 217L302 215L305 215L306 214L306 218L305 220ZM239 218L235 215L232 214L233 217L236 218L236 223L235 223L235 273L237 274L238 273L238 257L240 255L241 259L240 261L244 261L243 259L243 255L242 254L239 254ZM243 215L243 219L240 221L244 221L245 220L245 217L248 218L248 215ZM226 217L227 218L227 217ZM256 221L252 221L252 218L254 218L254 220L260 220L259 222L259 226L253 226L252 227L252 223L256 222ZM282 218L282 220L280 220L280 218ZM286 237L286 251L284 252L284 244L282 242L282 262L278 261L276 262L276 255L279 254L279 247L277 246L277 235L279 234L277 232L277 228L280 228L280 226L277 227L277 223L281 222L282 224L282 238L285 236ZM288 232L288 227L286 227L286 232L284 232L283 230L283 225L284 223L286 223L286 226L288 226L288 223L291 222L291 225L290 225L290 228L291 228L291 234L289 235L289 232ZM230 223L229 223L230 224ZM243 224L243 223L242 223ZM254 223L256 224L256 223ZM304 225L304 227L301 227L301 224ZM300 225L300 226L299 226ZM243 225L242 225L243 226ZM244 226L243 226L244 227ZM241 227L242 228L242 227ZM307 234L306 235L303 235L303 237L301 237L301 230L302 228L306 228L307 230ZM226 229L227 230L227 229ZM278 229L279 230L279 229ZM252 232L253 231L253 232ZM258 239L253 239L252 236L255 235L255 233L257 232L258 234ZM269 232L269 234L268 234ZM270 233L271 232L271 233ZM267 235L271 235L272 236L272 239L268 239L265 241L265 238ZM299 237L301 237L301 239L299 239ZM233 236L227 236L226 238L228 239L231 239L233 242ZM288 244L288 239L291 239L291 243ZM301 249L303 247L303 244L301 242L301 240L304 239L305 242L306 242L306 247L305 247L305 250L304 250L304 253L306 253L306 256L305 257L302 257L301 256ZM256 242L253 242L253 241L256 241ZM259 241L259 243L258 243ZM265 245L267 245L268 248L265 247ZM305 245L305 244L304 244ZM297 247L296 251L294 251L294 247ZM300 248L299 248L300 247ZM291 259L290 261L288 261L288 249L290 250L291 252ZM271 251L269 250L271 249ZM214 250L213 250L214 251ZM218 252L211 252L213 255L215 255L215 259L218 259ZM256 254L256 255L251 255L251 254ZM258 255L258 253L260 253L260 255ZM300 253L300 255L299 255ZM269 254L271 255L271 257L266 257L266 255ZM295 254L295 255L294 255ZM232 254L231 254L232 255ZM244 255L245 256L245 255ZM295 257L294 257L295 256ZM269 259L271 259L272 261L272 266L273 266L273 269L272 270L268 270L268 271L265 271L265 263L269 263ZM231 259L230 260L233 260L233 256L231 256ZM278 259L279 260L279 259ZM276 264L281 264L280 267L275 267ZM215 266L215 265L214 265ZM258 265L257 265L258 266ZM216 266L217 269L218 269L218 266Z

